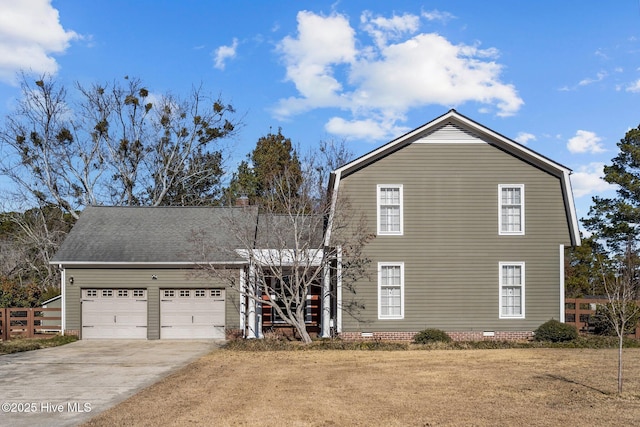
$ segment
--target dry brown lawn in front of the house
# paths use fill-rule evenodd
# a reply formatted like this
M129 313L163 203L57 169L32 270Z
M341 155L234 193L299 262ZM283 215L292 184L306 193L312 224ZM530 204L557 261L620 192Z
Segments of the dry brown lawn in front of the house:
M215 351L90 426L626 426L640 349Z

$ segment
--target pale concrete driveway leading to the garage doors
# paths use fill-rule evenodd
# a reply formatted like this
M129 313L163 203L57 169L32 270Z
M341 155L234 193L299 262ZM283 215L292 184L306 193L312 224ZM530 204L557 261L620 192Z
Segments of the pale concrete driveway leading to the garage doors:
M2 355L0 425L77 425L220 344L93 340Z

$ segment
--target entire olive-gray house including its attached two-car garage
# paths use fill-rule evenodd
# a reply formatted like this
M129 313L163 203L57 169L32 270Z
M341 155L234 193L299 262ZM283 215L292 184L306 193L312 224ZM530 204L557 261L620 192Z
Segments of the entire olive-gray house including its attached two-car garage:
M308 295L308 327L345 339L411 339L425 328L513 339L563 320L564 251L580 243L569 174L454 110L338 168L332 211L346 212L347 201L366 217L369 271L351 288L337 260L336 274ZM258 250L287 247L256 207L86 208L52 261L63 329L175 339L259 337L281 326L227 282L193 274L206 262L251 283L230 224L244 224ZM215 250L203 258L194 235ZM322 248L321 237L310 247Z

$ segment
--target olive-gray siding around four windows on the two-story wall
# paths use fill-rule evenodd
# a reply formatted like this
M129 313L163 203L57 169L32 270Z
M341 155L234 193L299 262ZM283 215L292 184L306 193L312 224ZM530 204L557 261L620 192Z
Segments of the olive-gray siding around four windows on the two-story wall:
M559 245L570 245L561 182L486 143L414 143L342 177L340 198L376 234L376 186L403 185L404 233L366 247L365 309L343 331L531 331L560 314ZM498 185L524 184L525 235L498 234ZM338 208L339 209L339 208ZM378 319L378 262L404 263L404 319ZM525 319L499 319L499 263L525 262Z

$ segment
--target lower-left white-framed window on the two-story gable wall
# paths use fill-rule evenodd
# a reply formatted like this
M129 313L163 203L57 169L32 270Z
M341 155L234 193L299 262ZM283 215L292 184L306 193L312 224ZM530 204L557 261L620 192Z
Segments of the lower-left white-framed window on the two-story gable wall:
M378 318L404 318L403 263L378 263Z

